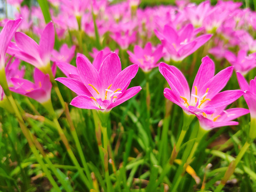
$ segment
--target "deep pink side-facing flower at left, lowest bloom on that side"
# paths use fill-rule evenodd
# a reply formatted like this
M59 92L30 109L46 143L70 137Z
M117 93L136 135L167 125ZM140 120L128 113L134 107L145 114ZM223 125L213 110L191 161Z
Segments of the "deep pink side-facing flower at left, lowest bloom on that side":
M40 103L44 103L51 99L52 84L48 74L43 74L42 71L35 68L34 81L32 83L23 78L11 78L13 87L10 90L35 99Z

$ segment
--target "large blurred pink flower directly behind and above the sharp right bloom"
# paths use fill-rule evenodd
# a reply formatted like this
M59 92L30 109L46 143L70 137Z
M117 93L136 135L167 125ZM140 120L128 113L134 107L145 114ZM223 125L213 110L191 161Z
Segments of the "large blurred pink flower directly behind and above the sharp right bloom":
M178 31L169 25L165 25L163 33L155 30L155 34L162 40L173 61L182 61L212 37L212 35L195 37L196 31L191 24L182 27Z

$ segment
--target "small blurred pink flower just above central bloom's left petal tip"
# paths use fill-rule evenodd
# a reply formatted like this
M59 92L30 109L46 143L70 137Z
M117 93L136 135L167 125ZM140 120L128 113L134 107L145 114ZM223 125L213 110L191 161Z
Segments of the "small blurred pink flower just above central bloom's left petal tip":
M59 52L56 50L52 51L51 60L52 61L70 62L75 55L75 49L76 49L75 45L73 45L69 48L67 44L63 44L60 47Z

